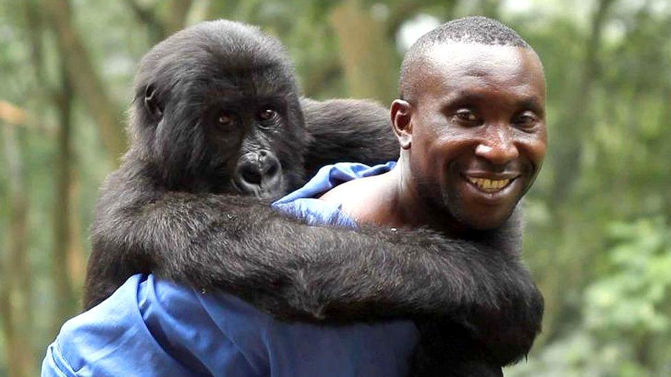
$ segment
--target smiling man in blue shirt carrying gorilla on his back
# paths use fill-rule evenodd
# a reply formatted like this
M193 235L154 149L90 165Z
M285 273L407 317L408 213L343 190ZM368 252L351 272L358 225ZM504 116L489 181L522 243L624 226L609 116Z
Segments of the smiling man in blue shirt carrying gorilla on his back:
M503 224L545 152L535 52L496 21L452 21L410 48L400 94L398 163L323 168L275 206L314 224L449 236ZM135 275L63 326L43 375L403 376L416 344L410 321L285 323L231 295Z

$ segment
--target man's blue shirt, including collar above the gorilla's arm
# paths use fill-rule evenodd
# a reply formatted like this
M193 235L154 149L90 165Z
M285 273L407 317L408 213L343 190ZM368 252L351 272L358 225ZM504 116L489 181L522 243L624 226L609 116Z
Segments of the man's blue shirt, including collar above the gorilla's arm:
M274 207L311 224L353 227L340 206L314 196L392 167L327 166ZM63 325L42 376L404 376L417 341L410 321L288 323L226 293L134 275Z

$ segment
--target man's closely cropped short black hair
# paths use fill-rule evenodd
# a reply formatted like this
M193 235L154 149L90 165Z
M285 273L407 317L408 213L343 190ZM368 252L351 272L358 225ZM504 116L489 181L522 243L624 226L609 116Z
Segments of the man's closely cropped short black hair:
M499 45L523 47L531 46L522 39L515 30L496 20L484 16L468 16L443 23L434 30L424 34L413 43L406 52L401 63L401 77L399 78L399 95L401 100L410 100L412 82L410 72L417 65L431 47L441 43L474 43L478 45Z

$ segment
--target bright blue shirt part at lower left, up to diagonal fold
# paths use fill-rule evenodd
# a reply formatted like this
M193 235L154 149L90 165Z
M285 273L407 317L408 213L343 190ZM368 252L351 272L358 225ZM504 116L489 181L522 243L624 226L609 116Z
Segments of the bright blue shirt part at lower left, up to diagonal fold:
M151 288L135 275L102 304L67 321L49 346L42 376L129 376L135 370L143 376L188 376L155 340L135 304Z

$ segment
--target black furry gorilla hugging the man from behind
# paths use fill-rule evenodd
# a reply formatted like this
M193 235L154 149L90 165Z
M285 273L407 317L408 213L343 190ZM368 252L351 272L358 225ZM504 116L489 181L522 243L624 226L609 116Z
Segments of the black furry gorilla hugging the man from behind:
M399 153L384 108L298 93L281 43L241 23L200 23L144 56L131 146L96 209L85 308L153 272L287 320L416 319L427 375L459 363L500 374L527 354L543 304L520 261L519 214L455 240L313 227L270 208L321 165Z

